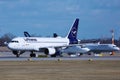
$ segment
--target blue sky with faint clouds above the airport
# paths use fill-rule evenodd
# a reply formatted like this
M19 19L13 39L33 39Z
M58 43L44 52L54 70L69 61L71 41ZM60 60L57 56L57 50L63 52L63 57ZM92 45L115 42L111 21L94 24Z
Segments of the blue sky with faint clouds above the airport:
M120 37L120 0L0 0L0 36L24 31L66 36L76 18L78 38Z

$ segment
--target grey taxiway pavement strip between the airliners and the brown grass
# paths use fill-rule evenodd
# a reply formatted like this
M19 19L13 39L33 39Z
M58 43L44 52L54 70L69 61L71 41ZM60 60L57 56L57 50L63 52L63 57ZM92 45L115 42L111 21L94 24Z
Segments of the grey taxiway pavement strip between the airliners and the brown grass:
M119 55L113 56L94 56L94 55L84 55L80 57L45 57L45 58L30 58L28 53L21 55L16 58L11 52L0 52L0 61L41 61L41 60L120 60Z

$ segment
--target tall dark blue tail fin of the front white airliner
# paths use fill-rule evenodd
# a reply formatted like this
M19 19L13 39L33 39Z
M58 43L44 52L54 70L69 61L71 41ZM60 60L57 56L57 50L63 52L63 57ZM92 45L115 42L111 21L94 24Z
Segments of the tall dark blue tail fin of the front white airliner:
M67 36L67 38L70 41L69 44L77 44L78 43L78 40L77 40L78 25L79 25L79 19L77 18Z

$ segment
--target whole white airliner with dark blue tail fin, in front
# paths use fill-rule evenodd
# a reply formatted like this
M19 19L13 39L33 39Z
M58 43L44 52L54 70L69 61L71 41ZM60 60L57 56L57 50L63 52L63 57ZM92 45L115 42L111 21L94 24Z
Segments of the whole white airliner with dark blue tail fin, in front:
M44 52L46 55L55 57L59 55L61 50L65 47L71 47L77 44L79 19L77 18L65 38L61 37L16 37L8 43L8 48L12 50L16 57L19 57L25 51L30 51L30 57L36 57L34 52ZM80 50L81 49L81 50ZM80 48L79 52L88 52L88 48Z

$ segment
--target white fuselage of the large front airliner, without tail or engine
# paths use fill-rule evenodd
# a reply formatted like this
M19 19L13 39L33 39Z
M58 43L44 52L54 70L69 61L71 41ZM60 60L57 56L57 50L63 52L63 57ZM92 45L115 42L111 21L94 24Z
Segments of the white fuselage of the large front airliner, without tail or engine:
M8 47L12 50L35 50L40 48L54 48L69 45L67 38L40 38L40 37L17 37L14 38Z

